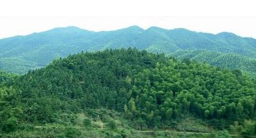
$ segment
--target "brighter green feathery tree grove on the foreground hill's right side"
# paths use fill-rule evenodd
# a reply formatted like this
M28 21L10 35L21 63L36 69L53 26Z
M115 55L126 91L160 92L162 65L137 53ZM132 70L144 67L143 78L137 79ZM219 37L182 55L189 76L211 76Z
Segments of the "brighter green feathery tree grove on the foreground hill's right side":
M254 117L254 80L208 64L172 59L169 64L134 76L127 117L142 118L150 127L163 127L187 112L227 121Z

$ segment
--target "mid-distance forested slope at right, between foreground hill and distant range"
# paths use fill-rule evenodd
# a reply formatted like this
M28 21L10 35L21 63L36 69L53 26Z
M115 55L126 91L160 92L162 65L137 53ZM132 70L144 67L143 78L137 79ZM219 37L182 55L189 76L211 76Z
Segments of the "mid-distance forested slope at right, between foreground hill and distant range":
M189 58L217 67L238 69L256 77L256 59L234 53L220 53L210 50L179 50L171 54L179 59Z

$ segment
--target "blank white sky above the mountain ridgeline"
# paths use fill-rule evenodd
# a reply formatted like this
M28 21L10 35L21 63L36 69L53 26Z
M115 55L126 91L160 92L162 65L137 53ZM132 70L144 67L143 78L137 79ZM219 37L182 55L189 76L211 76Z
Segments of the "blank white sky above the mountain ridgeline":
M198 32L233 32L256 38L253 0L1 0L0 38L55 27L109 31L138 25Z

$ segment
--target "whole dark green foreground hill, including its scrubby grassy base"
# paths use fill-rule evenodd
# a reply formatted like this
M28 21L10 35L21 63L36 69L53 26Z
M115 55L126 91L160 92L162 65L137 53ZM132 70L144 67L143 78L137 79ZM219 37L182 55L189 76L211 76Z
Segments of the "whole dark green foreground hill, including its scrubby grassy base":
M3 81L1 137L213 137L235 121L256 133L255 80L146 50L81 52Z

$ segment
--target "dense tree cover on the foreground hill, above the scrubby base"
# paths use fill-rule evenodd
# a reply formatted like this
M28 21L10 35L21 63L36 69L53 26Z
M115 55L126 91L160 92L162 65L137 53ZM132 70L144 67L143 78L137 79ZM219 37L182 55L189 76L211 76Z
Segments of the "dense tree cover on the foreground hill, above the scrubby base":
M256 107L255 81L238 70L136 49L54 60L6 83L0 96L3 132L15 131L18 123L58 124L63 114L102 107L124 113L138 129L168 128L185 114L224 128L253 119Z

